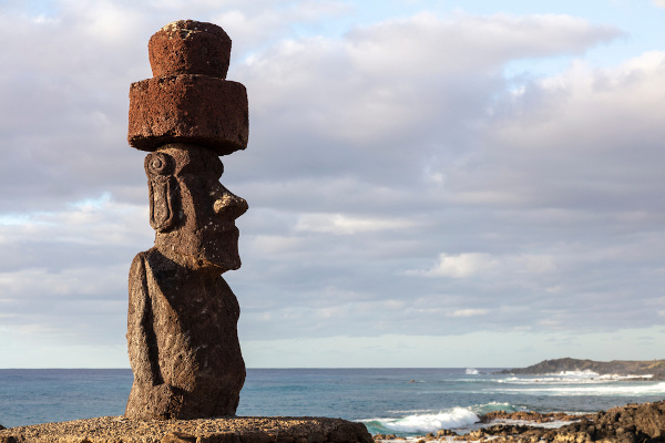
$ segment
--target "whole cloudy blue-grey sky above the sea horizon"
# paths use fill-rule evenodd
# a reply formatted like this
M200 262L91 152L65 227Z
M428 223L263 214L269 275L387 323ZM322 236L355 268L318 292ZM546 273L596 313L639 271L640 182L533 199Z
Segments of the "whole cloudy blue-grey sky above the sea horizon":
M181 19L248 92L248 368L665 358L665 1L0 0L0 368L129 368L127 94Z

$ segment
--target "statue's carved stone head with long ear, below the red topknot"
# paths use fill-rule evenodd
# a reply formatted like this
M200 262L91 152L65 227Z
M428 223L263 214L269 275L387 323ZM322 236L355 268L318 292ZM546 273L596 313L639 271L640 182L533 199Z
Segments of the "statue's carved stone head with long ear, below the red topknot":
M219 183L223 172L213 151L192 144L167 144L145 157L150 224L164 256L219 274L241 267L235 219L248 206Z

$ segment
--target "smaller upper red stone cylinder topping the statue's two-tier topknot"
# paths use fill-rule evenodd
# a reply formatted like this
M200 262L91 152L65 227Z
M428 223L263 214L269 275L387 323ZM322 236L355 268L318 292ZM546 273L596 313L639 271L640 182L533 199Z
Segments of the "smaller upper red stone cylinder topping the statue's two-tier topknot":
M178 20L158 30L147 50L153 76L205 74L226 79L231 39L216 24Z

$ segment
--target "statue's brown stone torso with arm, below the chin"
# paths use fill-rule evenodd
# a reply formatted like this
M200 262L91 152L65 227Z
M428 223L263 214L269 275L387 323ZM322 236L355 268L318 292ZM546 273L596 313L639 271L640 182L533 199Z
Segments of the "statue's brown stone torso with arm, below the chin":
M130 272L127 333L134 384L175 388L182 418L235 413L245 379L238 316L221 276L183 268L154 248L139 254ZM145 349L133 356L133 347Z

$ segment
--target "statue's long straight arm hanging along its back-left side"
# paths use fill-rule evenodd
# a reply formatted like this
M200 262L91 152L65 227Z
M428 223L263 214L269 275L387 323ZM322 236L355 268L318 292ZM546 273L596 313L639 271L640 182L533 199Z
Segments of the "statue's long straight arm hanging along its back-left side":
M143 385L156 385L162 383L162 377L144 254L136 255L130 268L127 348L134 380Z

